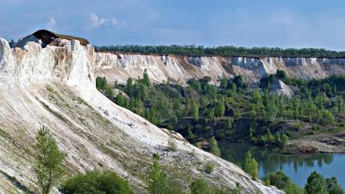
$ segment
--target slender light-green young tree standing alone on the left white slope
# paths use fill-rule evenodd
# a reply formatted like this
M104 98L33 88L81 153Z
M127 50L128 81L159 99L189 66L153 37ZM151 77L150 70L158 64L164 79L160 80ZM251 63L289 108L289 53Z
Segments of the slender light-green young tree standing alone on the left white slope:
M37 184L41 188L41 193L48 194L51 188L59 184L66 174L62 164L66 153L59 151L55 138L46 127L39 129L36 140L34 173L37 176Z

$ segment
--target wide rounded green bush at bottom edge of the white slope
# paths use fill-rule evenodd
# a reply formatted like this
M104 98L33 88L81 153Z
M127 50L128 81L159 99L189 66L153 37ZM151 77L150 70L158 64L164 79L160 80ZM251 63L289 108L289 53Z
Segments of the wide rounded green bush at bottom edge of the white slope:
M62 186L63 193L109 193L131 194L132 188L117 173L105 171L89 171L70 177Z

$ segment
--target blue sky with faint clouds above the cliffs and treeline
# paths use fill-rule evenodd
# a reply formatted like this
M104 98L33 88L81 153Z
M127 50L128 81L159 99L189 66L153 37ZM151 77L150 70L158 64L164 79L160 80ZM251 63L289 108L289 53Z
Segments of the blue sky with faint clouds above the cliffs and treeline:
M48 29L93 45L345 50L344 8L342 0L0 0L0 37Z

